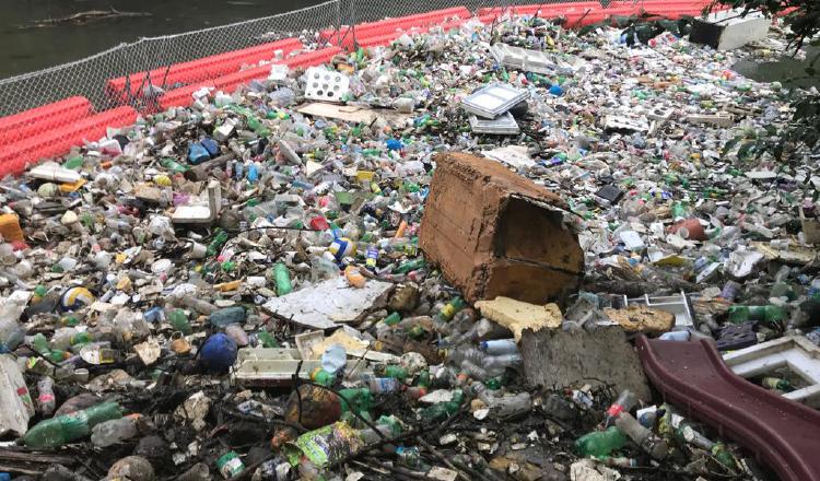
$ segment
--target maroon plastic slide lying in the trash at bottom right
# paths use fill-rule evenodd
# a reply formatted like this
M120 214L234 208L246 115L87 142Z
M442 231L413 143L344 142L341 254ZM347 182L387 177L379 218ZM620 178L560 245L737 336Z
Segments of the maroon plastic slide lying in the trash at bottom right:
M646 376L664 398L771 466L783 481L820 479L820 412L733 373L714 343L637 339Z

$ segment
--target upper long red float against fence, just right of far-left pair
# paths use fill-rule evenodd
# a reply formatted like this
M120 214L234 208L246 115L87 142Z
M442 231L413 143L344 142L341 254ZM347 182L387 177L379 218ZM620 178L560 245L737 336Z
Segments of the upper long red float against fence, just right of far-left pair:
M153 85L167 89L176 83L192 83L214 77L239 70L243 64L257 63L260 60L273 59L276 50L282 50L286 56L293 50L303 48L298 38L285 38L256 47L243 48L241 50L227 51L225 54L213 55L198 60L191 60L183 63L174 63L168 68L159 68L150 72L132 73L127 77L108 80L106 92L112 101L126 103L128 101L128 87L130 82L131 95L141 96L141 89L147 86L148 77Z

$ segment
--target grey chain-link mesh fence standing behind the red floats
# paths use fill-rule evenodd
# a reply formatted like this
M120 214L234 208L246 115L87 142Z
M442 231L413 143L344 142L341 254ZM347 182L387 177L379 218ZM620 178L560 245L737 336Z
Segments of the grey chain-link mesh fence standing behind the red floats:
M565 0L564 0L565 1ZM636 0L639 1L639 0ZM515 4L550 4L562 0L516 0ZM608 2L605 2L605 4ZM313 39L317 32L338 31L342 25L355 25L385 17L405 16L467 7L476 12L483 7L509 7L509 0L331 0L318 5L230 25L141 38L121 44L94 56L57 67L0 80L0 116L8 116L39 105L81 95L95 110L132 103L132 98L112 98L106 81L138 72L200 59L232 50L263 45L279 38L301 36ZM355 31L345 35L354 35ZM166 87L164 75L140 80L134 90L148 85ZM210 77L189 73L187 82Z

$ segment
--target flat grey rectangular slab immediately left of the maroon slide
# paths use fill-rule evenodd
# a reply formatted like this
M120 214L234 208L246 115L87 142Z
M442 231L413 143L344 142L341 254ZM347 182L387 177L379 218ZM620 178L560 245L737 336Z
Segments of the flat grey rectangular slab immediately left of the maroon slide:
M649 400L641 361L620 327L525 330L520 343L527 383L547 387L614 385Z

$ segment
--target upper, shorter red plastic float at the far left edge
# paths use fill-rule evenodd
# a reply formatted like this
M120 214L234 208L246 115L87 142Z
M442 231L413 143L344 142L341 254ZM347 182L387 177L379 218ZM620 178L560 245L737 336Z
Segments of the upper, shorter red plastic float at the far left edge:
M68 97L31 110L0 117L0 146L44 133L91 115L85 97Z

